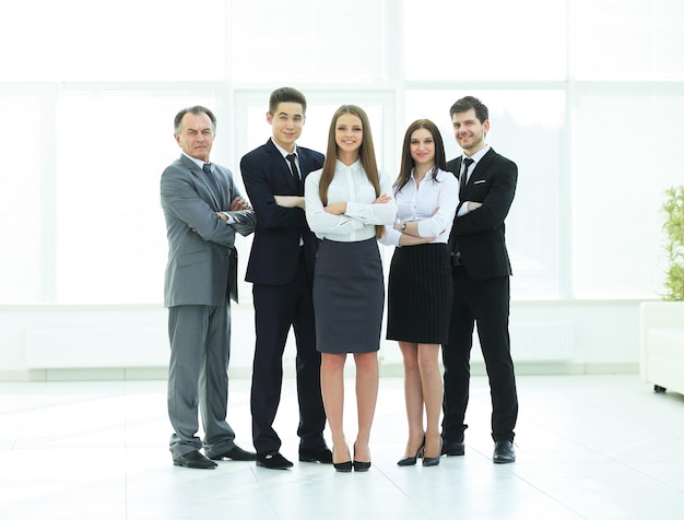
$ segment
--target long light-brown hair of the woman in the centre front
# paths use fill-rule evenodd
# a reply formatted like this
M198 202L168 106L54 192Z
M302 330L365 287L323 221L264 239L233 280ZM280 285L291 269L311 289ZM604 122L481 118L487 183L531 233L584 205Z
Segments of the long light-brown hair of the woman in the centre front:
M358 158L366 172L368 181L375 189L376 198L380 196L380 175L378 173L378 163L375 158L375 146L373 145L373 134L370 133L370 123L368 122L368 116L363 108L356 105L342 105L338 108L330 121L330 130L328 131L328 150L326 151L326 159L323 162L323 170L320 176L320 184L318 186L318 194L323 205L328 205L328 188L332 178L334 177L334 167L338 158L338 143L335 141L335 128L338 126L338 119L344 114L351 114L361 119L361 127L364 132L363 141L358 150ZM385 234L385 226L375 226L375 236L380 238Z

